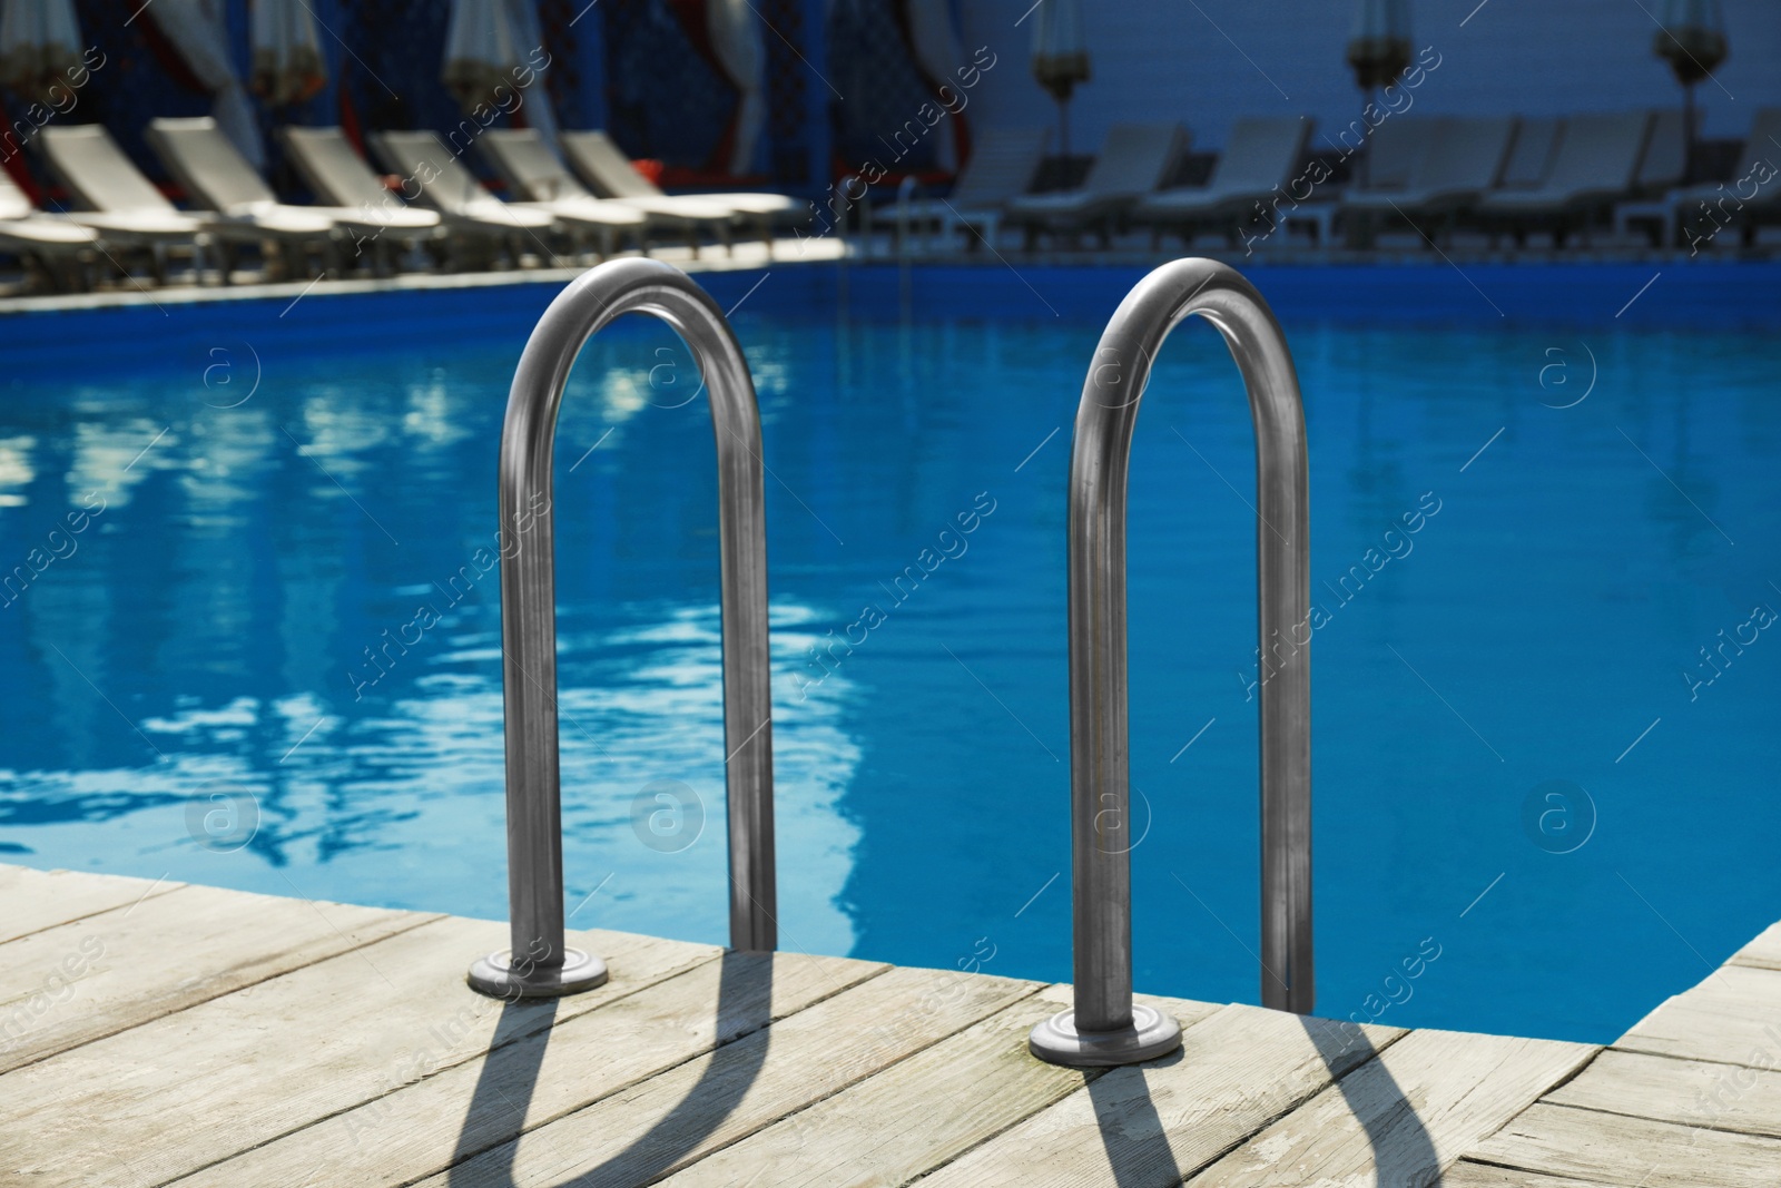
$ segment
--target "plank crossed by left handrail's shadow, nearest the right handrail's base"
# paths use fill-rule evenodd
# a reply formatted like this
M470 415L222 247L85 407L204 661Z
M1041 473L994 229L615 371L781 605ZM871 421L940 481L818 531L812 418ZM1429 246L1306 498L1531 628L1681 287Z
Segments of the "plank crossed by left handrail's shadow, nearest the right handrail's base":
M458 1165L451 1184L647 1184L896 1063L1010 1003L1031 981L892 969L709 1056Z

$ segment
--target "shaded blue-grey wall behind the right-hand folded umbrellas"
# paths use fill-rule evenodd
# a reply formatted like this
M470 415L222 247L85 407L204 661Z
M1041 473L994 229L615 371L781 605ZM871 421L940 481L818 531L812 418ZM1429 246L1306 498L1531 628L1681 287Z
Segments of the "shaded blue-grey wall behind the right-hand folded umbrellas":
M1037 18L1015 27L1031 2L962 0L965 53L987 45L1001 59L972 98L980 126L1056 126L1056 105L1028 71ZM1662 0L1485 0L1473 12L1476 4L1412 0L1416 46L1441 53L1416 110L1681 107L1669 64L1651 52ZM1781 103L1781 4L1724 9L1731 55L1696 102L1704 135L1742 137L1756 107ZM1218 148L1240 114L1304 112L1339 128L1361 109L1343 61L1352 20L1354 0L1085 0L1094 80L1070 102L1072 151L1092 151L1118 119L1177 118L1197 148Z

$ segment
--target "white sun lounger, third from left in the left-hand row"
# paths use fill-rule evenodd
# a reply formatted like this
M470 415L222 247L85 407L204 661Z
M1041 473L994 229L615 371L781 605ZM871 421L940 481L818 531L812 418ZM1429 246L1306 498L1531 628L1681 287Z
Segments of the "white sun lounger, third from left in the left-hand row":
M260 173L240 155L210 116L151 119L148 142L185 192L230 219L283 226L328 219L354 242L353 255L385 235L394 240L426 242L438 235L440 219L431 210L340 207L292 207L278 201ZM385 256L378 253L378 265Z

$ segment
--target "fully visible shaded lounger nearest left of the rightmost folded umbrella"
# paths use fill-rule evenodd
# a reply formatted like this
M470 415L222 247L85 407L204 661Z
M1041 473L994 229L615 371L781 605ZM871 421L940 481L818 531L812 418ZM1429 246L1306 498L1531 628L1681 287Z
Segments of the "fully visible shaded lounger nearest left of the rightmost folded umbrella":
M1633 191L1639 159L1651 132L1651 112L1592 112L1565 119L1546 180L1537 189L1498 189L1475 212L1494 232L1517 242L1532 228L1549 228L1562 244L1573 230L1589 237L1596 216Z

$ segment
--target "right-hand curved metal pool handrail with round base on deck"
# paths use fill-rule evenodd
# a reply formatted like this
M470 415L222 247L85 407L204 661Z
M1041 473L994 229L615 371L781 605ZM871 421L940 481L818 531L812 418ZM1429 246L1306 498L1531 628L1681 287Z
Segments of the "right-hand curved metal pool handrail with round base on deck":
M1133 289L1095 349L1070 452L1070 821L1076 1008L1028 1047L1063 1065L1154 1060L1181 1024L1131 997L1126 476L1163 338L1199 313L1224 335L1256 422L1261 647L1261 1001L1309 1013L1311 538L1305 417L1286 337L1234 269L1175 260Z

